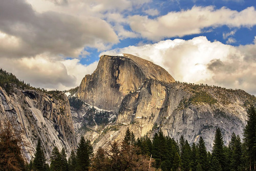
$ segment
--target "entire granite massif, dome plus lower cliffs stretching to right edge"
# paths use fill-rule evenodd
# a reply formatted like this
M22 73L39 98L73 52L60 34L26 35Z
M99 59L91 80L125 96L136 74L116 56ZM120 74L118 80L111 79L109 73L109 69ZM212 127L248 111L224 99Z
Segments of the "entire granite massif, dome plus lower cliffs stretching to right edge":
M211 149L217 127L226 144L232 132L242 137L246 109L256 103L243 90L175 82L163 68L130 54L101 56L77 96L87 104L72 112L77 120L80 116L76 134L86 135L96 148L122 139L129 127L136 137L153 137L159 129L174 139L183 135L189 143L202 136ZM95 122L98 111L88 112L92 106L115 112L116 119L111 120L113 114L109 122Z

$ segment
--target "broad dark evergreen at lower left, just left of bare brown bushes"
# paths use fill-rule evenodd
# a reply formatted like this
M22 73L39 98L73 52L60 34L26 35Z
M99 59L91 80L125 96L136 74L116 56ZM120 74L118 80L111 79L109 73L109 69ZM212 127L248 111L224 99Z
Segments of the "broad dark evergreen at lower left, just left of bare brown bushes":
M89 170L91 159L93 157L93 147L90 140L80 139L77 147L77 170Z

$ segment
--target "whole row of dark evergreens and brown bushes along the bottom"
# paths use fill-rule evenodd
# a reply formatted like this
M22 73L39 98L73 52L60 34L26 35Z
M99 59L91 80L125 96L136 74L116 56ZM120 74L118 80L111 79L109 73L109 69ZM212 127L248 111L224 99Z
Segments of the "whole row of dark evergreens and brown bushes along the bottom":
M64 148L52 150L50 165L44 156L44 149L38 140L34 159L29 164L22 160L18 140L5 132L0 134L0 169L4 170L256 170L256 111L251 106L244 128L243 142L232 134L227 146L224 145L221 129L215 132L212 151L207 151L200 137L198 143L189 144L181 136L179 140L163 135L159 130L151 140L148 136L135 139L129 128L121 142L107 142L93 153L90 140L81 137L77 149L67 159ZM8 144L10 147L8 147ZM13 154L13 155L11 155ZM15 154L15 155L14 155ZM10 158L10 160L9 160ZM12 159L12 160L11 160ZM15 160L14 160L15 159Z

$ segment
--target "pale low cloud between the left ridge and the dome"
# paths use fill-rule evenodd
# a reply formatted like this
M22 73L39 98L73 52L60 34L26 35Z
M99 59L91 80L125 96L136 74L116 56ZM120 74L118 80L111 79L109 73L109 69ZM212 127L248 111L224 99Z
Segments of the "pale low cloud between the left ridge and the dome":
M78 86L86 74L98 64L82 65L78 59L63 60L49 53L31 58L0 58L1 67L34 87L65 90Z

